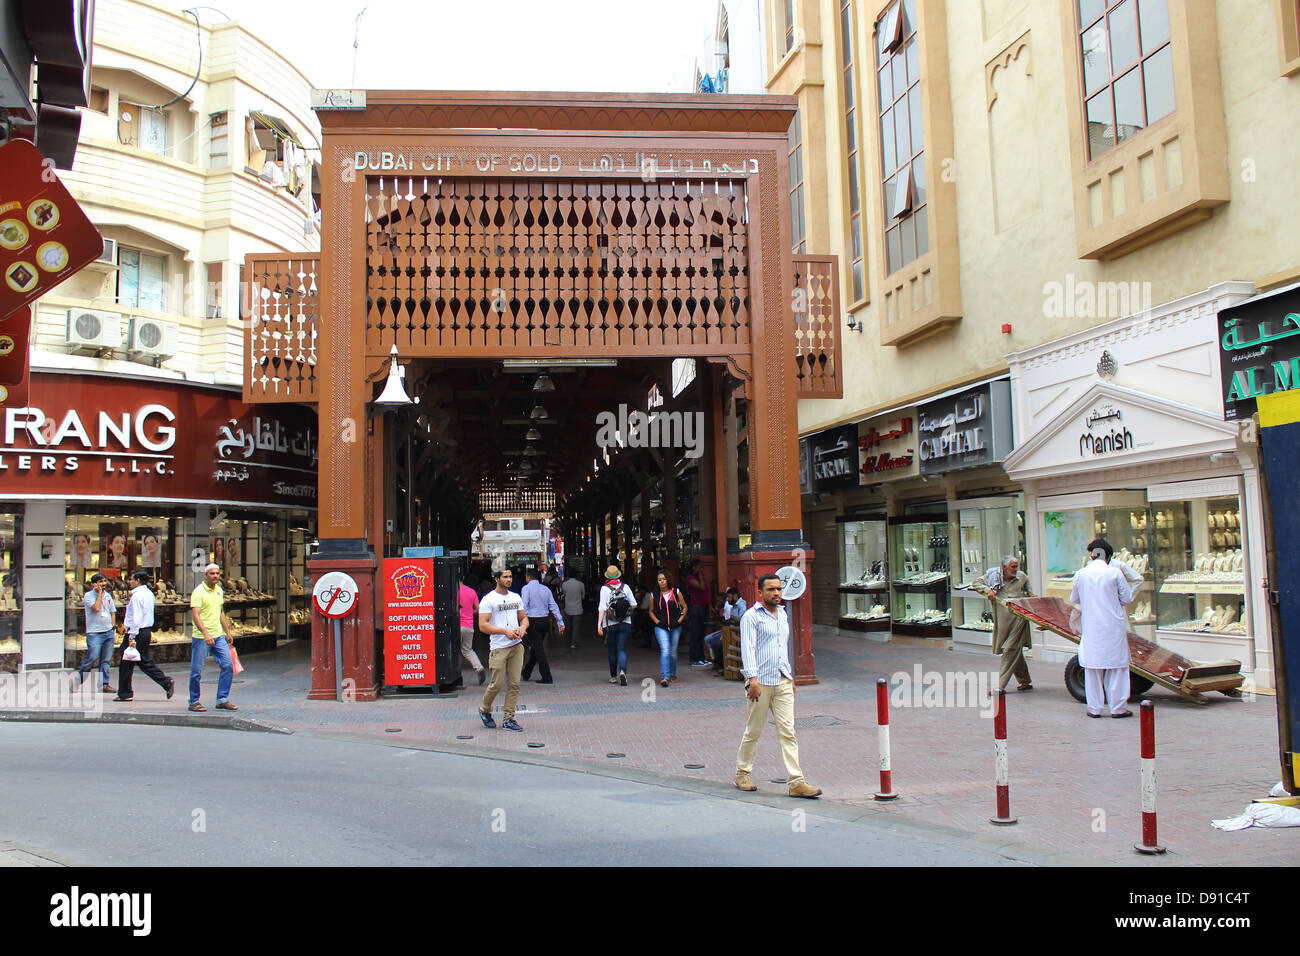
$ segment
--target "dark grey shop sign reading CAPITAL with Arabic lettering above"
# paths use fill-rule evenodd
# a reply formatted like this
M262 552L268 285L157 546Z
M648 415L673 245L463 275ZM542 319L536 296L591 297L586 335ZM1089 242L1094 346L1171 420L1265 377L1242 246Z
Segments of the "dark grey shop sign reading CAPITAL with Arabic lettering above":
M1001 462L1011 451L1011 382L978 385L916 410L920 473Z

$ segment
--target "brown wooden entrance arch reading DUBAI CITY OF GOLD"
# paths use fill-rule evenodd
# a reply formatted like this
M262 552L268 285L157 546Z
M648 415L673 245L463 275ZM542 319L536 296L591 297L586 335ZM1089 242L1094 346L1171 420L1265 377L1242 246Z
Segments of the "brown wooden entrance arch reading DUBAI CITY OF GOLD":
M715 580L811 559L798 550L796 406L841 388L838 308L835 260L789 251L794 108L370 91L364 109L320 112L321 254L248 260L244 398L318 407L312 567L361 584L343 663L358 700L378 689L384 473L368 408L393 346L403 362L693 358L712 421L731 376L750 408L753 546L728 555L718 535ZM716 502L720 514L720 489ZM815 679L810 617L796 605L793 618L796 667ZM312 696L333 697L322 627L313 643Z

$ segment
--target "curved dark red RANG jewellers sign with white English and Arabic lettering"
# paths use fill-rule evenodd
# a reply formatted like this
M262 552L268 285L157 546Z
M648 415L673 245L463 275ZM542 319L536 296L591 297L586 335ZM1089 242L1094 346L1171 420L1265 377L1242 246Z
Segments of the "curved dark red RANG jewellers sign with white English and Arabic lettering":
M216 389L31 376L0 410L0 494L316 507L316 415Z

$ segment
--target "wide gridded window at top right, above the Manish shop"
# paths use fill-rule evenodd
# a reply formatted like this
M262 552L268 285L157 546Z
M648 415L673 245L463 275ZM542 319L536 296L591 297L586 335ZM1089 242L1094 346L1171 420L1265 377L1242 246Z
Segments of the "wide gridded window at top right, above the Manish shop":
M1174 112L1167 0L1078 0L1088 159Z

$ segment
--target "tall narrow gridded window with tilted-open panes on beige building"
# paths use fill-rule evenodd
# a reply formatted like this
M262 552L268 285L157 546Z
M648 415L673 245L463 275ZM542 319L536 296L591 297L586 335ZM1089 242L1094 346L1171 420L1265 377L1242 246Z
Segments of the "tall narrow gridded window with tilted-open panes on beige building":
M930 251L915 0L896 0L876 23L885 273Z

